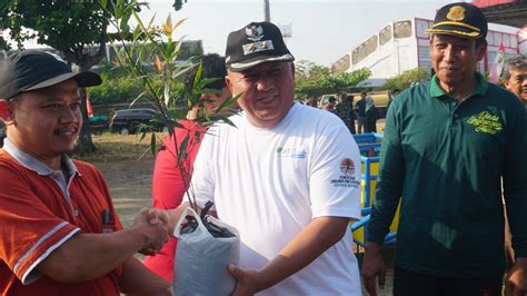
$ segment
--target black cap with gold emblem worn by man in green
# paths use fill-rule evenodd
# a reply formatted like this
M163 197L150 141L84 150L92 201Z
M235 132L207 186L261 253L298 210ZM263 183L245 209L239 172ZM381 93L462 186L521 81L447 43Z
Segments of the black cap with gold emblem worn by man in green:
M450 3L440 8L427 33L454 34L479 39L487 37L487 19L478 7L466 3Z

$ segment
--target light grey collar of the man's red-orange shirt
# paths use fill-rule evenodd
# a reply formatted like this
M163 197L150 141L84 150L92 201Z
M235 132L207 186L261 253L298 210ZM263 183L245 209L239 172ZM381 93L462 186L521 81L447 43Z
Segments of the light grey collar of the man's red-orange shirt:
M8 152L14 160L17 160L23 167L36 171L39 175L48 176L51 175L54 170L50 167L44 165L42 161L38 160L37 158L32 157L31 155L24 152L20 148L18 148L13 142L6 138L3 140L3 150ZM73 160L69 158L67 155L61 156L61 164L66 166L70 176L78 174L80 176L77 166L73 164Z

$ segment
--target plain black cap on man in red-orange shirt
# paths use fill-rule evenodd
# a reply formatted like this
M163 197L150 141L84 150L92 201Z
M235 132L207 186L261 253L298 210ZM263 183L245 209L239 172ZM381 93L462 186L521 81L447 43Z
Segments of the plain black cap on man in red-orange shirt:
M73 73L59 56L39 50L24 50L9 56L2 65L0 77L0 99L11 99L21 92L47 88L68 79L74 79L79 87L102 82L98 73Z

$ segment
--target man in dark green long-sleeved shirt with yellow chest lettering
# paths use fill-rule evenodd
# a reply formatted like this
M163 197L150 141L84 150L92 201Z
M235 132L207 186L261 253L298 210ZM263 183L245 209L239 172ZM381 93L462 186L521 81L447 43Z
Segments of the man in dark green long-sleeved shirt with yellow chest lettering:
M438 10L427 32L436 75L388 110L362 276L384 285L379 255L401 203L394 295L501 295L504 196L516 262L510 295L527 292L527 122L521 102L476 72L487 21L469 3Z

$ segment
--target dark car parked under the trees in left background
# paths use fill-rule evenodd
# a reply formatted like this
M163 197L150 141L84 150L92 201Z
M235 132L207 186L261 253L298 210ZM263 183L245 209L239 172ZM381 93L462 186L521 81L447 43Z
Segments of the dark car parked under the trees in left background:
M117 110L110 120L110 130L121 135L135 134L141 124L151 125L156 111L148 108L133 108Z

